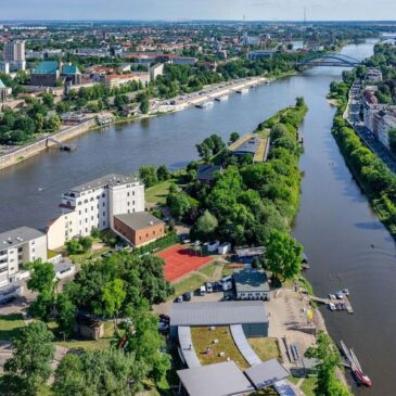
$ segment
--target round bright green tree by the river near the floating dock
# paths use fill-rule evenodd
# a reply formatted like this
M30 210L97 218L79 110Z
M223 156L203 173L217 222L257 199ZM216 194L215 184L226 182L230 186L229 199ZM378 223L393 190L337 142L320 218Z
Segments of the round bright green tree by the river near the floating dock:
M291 279L301 272L303 245L289 233L272 230L266 242L266 265L273 276Z

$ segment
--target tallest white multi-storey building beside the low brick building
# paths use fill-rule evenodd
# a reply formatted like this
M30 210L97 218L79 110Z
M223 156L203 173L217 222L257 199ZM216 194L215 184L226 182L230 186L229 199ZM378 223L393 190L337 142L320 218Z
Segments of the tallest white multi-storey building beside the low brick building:
M61 216L48 226L48 247L58 248L92 228L113 228L114 215L144 212L144 184L132 176L107 175L62 195Z

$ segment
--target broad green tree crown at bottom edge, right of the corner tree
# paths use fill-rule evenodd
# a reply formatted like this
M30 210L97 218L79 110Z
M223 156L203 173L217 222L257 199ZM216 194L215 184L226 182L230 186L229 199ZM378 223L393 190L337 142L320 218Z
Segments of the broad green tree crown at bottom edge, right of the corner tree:
M66 355L53 383L55 396L131 396L141 388L146 367L132 354L105 349Z

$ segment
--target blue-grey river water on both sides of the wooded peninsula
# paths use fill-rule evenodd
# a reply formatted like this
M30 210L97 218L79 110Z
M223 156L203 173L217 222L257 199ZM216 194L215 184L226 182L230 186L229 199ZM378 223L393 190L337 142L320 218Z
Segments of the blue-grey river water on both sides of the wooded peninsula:
M373 42L342 51L357 59ZM43 228L56 216L61 193L106 173L137 171L143 164L180 167L196 157L195 143L210 133L252 131L258 123L304 95L309 112L302 127L305 173L294 234L311 263L316 294L348 288L355 315L323 310L335 341L354 346L373 389L357 394L393 396L396 361L396 255L388 232L352 179L330 128L335 110L325 94L341 68L317 67L298 76L231 95L209 110L190 108L76 139L72 153L51 149L0 171L0 231L23 225ZM371 247L374 244L374 248Z

